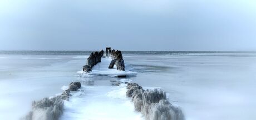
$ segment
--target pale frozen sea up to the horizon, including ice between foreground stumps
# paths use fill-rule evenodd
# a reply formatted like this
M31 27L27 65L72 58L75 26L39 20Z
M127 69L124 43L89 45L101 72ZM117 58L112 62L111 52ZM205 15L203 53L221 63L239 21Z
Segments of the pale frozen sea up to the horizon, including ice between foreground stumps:
M23 117L33 100L55 96L73 81L82 88L65 102L61 119L144 119L121 81L163 88L187 120L256 119L254 52L124 51L131 75L125 79L99 69L82 75L90 53L0 51L0 119Z

